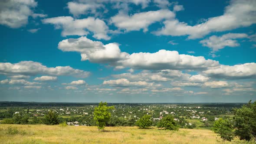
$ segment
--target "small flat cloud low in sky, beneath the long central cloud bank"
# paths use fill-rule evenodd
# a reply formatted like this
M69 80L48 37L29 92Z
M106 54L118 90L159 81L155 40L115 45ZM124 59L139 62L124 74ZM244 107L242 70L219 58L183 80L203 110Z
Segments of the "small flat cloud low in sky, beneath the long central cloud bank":
M116 80L108 80L104 81L103 85L110 85L114 87L132 87L132 86L153 86L153 83L148 83L144 81L130 82L128 79L116 79Z

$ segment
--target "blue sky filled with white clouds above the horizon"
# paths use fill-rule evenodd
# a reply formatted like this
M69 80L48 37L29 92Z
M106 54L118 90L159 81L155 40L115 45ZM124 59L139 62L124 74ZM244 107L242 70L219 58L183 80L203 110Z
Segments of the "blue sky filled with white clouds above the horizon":
M255 0L0 2L0 101L256 100Z

